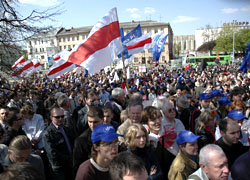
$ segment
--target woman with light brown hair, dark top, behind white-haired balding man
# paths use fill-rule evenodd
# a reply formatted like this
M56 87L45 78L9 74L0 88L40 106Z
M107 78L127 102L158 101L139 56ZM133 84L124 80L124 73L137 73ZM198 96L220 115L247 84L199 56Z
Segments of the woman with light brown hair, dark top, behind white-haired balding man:
M207 144L215 142L215 121L217 112L213 110L203 111L198 119L197 135L199 149Z

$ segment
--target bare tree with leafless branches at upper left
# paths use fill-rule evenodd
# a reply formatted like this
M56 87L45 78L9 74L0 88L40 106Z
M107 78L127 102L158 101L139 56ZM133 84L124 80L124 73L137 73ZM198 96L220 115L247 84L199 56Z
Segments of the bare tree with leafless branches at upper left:
M44 11L33 10L23 17L16 8L18 0L0 0L0 69L10 70L13 61L17 60L23 50L23 42L39 33L52 30L53 26L44 26L45 21L63 12L61 4Z

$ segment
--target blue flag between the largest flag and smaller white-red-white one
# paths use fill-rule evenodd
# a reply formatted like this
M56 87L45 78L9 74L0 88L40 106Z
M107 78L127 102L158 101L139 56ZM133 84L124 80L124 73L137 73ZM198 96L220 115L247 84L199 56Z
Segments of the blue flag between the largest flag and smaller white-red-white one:
M120 33L121 33L121 40L122 40L123 45L128 43L129 41L135 39L135 38L138 38L138 37L142 36L140 24L138 26L136 26L128 34L126 34L126 36L124 36L123 28L120 29ZM121 54L119 54L118 57L121 58ZM124 48L123 48L123 57L124 57L124 59L128 59L128 58L131 57L131 55L128 54L128 49L127 49L127 47L125 45L124 45Z

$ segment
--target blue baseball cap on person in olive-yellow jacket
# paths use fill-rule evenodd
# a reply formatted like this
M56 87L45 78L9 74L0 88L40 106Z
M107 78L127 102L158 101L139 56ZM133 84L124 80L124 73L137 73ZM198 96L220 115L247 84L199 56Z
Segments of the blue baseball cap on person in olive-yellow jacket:
M184 143L192 143L195 142L200 136L196 136L194 133L191 131L181 131L177 138L176 138L176 143L179 145L182 145Z

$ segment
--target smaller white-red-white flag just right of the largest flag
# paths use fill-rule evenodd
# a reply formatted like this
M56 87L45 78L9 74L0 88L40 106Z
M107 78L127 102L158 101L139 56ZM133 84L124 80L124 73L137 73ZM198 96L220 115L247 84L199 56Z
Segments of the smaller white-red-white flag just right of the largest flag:
M139 38L133 39L126 44L128 48L128 54L133 55L140 53L146 49L152 47L151 33L145 34Z

